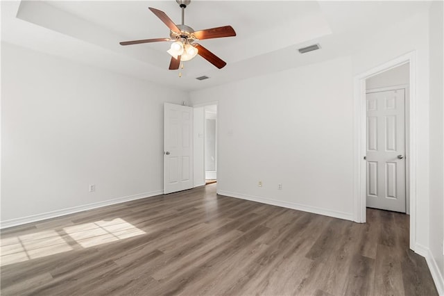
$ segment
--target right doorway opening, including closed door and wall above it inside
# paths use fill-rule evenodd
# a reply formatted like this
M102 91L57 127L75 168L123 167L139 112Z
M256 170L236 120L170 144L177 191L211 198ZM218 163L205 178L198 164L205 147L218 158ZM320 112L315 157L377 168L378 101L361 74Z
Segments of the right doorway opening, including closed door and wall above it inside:
M409 213L406 111L410 64L366 79L366 206Z

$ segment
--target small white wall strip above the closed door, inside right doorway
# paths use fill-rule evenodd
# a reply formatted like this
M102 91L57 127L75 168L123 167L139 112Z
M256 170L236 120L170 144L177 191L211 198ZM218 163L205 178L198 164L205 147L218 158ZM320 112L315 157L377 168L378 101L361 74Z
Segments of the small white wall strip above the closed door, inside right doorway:
M410 64L400 65L366 80L366 89L385 88L387 86L409 84Z

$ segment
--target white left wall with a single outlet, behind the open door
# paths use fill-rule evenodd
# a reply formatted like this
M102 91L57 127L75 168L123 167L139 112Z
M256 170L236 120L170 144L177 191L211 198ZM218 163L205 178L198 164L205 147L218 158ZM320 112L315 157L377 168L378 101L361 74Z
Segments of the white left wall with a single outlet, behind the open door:
M183 92L6 43L1 86L3 227L163 192L163 103Z

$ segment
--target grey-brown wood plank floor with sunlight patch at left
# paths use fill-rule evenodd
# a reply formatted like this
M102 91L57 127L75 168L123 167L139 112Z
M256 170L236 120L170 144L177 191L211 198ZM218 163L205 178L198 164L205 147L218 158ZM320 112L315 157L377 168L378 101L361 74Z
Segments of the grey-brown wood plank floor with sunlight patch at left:
M2 295L438 295L409 216L368 223L216 184L1 231Z

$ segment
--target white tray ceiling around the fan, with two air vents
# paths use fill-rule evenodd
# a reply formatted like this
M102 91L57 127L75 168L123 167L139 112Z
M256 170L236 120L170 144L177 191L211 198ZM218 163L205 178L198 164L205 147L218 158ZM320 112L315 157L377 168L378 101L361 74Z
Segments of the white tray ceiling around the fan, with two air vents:
M236 37L200 40L228 63L217 69L200 56L184 63L182 78L168 70L168 42L121 41L168 38L169 28L148 7L180 24L169 1L2 1L1 39L94 67L184 90L352 54L370 35L429 7L426 1L198 1L185 24L198 31L231 25ZM321 50L297 49L321 44ZM197 81L198 76L210 79Z

